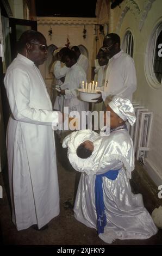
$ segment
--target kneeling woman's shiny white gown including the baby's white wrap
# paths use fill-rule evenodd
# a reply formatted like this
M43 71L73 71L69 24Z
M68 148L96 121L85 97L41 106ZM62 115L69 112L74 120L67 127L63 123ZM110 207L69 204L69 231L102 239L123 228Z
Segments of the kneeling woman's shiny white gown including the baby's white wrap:
M80 159L76 149L87 139L94 143L94 151L88 159ZM96 175L120 169L115 180L102 177L107 224L99 237L111 243L115 239L148 239L157 233L141 194L131 192L129 179L134 169L134 151L125 129L113 131L108 137L90 130L73 132L64 139L63 147L68 147L68 159L73 168L82 172L74 204L74 216L79 222L97 229Z

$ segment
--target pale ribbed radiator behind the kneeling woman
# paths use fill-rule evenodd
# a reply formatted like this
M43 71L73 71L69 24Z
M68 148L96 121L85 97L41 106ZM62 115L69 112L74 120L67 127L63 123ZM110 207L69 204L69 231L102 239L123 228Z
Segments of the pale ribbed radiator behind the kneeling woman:
M135 157L145 164L145 157L149 150L149 138L151 133L153 113L139 103L133 102L136 122L130 127L129 133L134 144Z

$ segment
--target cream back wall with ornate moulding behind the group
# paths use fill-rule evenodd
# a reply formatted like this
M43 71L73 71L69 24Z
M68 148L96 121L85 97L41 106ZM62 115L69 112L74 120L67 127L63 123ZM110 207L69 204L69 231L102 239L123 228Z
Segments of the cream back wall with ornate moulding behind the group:
M70 46L84 45L89 53L88 81L91 81L91 66L94 66L96 56L96 40L94 35L95 18L76 17L38 17L38 31L47 39L47 45L54 44L57 47L65 47L66 39L70 41ZM83 38L83 29L86 29L86 38ZM52 38L48 35L48 30L52 28ZM39 67L45 79L48 92L50 92L51 79L45 75L45 64Z

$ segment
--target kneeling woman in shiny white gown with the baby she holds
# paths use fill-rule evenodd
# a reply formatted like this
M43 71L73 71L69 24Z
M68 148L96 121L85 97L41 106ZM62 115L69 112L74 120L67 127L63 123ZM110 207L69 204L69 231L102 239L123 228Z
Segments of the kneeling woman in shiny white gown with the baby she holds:
M115 95L106 110L110 112L109 136L82 130L63 141L70 163L82 173L74 217L97 229L98 236L107 243L148 239L157 233L157 228L144 207L142 195L133 194L129 184L134 148L126 120L130 125L135 123L134 108L129 99Z

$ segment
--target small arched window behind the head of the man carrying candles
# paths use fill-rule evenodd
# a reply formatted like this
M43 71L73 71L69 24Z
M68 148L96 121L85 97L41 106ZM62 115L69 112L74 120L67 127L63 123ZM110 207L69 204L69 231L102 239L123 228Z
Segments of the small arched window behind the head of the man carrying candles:
M127 31L123 39L123 51L133 57L133 36L130 31Z

